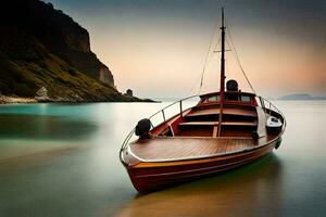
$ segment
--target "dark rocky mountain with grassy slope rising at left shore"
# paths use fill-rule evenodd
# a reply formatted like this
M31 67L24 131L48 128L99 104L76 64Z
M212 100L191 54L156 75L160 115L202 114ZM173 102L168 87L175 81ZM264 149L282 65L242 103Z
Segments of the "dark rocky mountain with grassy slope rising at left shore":
M114 88L108 66L90 50L89 34L39 0L0 7L0 93L57 101L137 101Z

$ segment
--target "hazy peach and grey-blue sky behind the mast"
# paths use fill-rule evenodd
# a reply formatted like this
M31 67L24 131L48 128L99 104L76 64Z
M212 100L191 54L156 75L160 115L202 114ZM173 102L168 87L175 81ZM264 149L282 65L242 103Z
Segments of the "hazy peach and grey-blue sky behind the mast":
M140 97L196 93L211 36L226 20L258 93L326 94L325 0L50 0L90 34L91 49L121 91ZM213 44L217 43L218 35ZM248 90L231 52L226 76ZM212 53L202 92L218 89L220 53Z

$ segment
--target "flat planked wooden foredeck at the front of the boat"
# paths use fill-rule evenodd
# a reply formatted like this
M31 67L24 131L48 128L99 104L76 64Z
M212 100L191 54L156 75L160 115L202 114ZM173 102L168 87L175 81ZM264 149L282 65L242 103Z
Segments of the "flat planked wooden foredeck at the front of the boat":
M262 145L272 140L264 137L251 138L177 138L158 137L137 140L129 144L131 152L145 161L195 158L206 155L226 154Z

